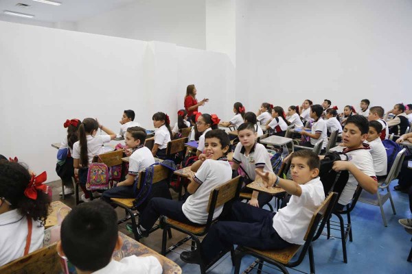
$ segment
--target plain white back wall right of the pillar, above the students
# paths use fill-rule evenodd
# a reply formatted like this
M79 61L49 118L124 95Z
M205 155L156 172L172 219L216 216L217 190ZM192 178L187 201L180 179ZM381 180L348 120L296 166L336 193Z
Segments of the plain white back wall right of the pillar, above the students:
M238 100L257 109L328 98L340 110L364 98L388 110L412 101L412 1L238 0L236 8Z

